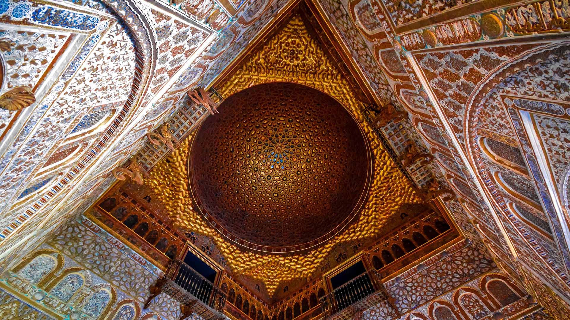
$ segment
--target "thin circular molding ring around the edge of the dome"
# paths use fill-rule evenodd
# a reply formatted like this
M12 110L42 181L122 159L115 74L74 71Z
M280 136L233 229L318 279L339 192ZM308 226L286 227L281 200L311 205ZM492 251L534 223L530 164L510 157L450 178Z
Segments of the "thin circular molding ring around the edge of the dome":
M370 186L372 184L372 179L374 177L374 159L373 159L372 150L370 149L370 141L368 140L367 133L364 131L363 125L361 125L360 121L357 120L357 118L356 118L355 114L353 114L352 110L349 109L347 106L345 106L341 101L336 99L336 97L329 95L327 92L324 92L319 88L316 88L316 87L313 87L311 85L307 85L304 83L298 83L295 81L267 81L267 82L258 83L258 84L251 86L251 87L237 91L237 92L233 93L232 95L230 95L229 97L226 97L223 101L229 99L231 96L237 95L238 93L241 93L241 92L246 91L248 89L251 89L253 87L257 87L259 85L264 85L264 84L274 84L274 83L288 83L288 84L301 85L301 86L308 87L308 88L319 91L323 95L326 95L326 96L332 98L340 106L342 106L343 109L347 112L347 114L349 114L349 116L352 118L352 121L354 121L354 124L359 128L359 132L361 134L361 137L362 137L362 140L364 142L365 149L366 149L366 153L367 153L366 154L367 176L366 176L366 180L365 180L363 190L360 194L358 201L356 202L356 205L352 208L352 211L349 212L349 214L347 214L345 219L343 219L343 221L341 221L335 228L332 228L330 231L328 231L324 235L317 237L315 240L309 241L307 243L302 243L302 244L275 247L275 246L259 245L259 244L251 243L250 241L243 240L243 239L235 236L233 234L233 232L228 231L221 224L219 224L215 218L213 218L209 213L207 213L207 211L205 210L205 207L201 203L200 198L198 197L196 189L193 188L193 186L192 186L193 178L192 178L192 167L191 167L192 166L192 163L191 163L192 162L192 155L191 154L192 154L192 150L194 147L194 142L196 141L196 139L194 138L194 137L196 137L196 134L194 134L194 136L190 139L190 145L188 147L188 156L186 157L186 170L187 170L186 174L187 174L188 179L186 179L186 180L188 182L187 183L188 191L189 191L190 198L192 199L192 204L193 204L194 210L200 215L200 217L202 219L204 219L206 221L206 223L211 228L215 229L215 231L218 232L219 235L221 235L224 239L228 240L231 244L236 245L238 248L244 249L245 251L253 251L253 252L265 253L265 254L270 253L270 254L278 254L278 255L279 254L291 255L294 253L305 253L305 252L310 251L311 249L315 249L316 247L319 247L320 245L326 244L328 241L332 240L335 236L339 235L341 232L348 229L355 222L357 216L359 216L359 214L363 210L365 204L367 204L368 198L370 196L370 194L369 194ZM222 103L223 103L223 101L222 101ZM210 117L210 115L207 117ZM204 119L206 119L206 118L204 118ZM201 123L194 130L195 133L200 132L200 129L202 128L202 125L204 124L204 122L205 121L201 121Z

